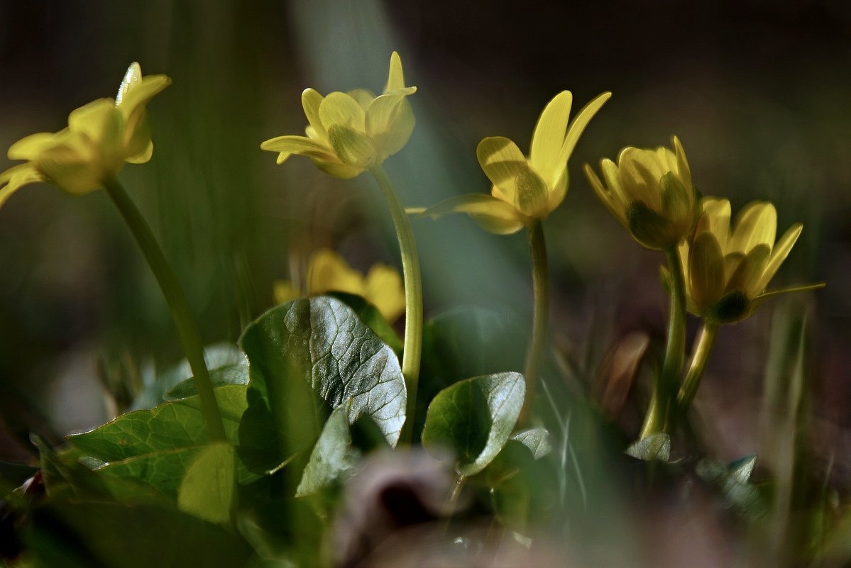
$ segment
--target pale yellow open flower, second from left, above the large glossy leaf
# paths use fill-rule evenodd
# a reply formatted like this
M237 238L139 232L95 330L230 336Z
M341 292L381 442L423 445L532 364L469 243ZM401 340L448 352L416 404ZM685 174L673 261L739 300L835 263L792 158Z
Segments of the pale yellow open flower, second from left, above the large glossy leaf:
M277 163L299 154L336 178L353 178L402 150L414 131L414 112L405 87L402 60L395 51L384 92L376 97L366 89L334 92L323 97L312 88L301 94L307 136L278 136L260 145L279 152Z

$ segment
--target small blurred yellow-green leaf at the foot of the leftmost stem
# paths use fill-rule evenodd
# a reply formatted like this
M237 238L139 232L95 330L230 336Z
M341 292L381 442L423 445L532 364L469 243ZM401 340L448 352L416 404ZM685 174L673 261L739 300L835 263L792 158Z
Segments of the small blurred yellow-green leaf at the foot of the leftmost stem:
M233 446L226 442L203 447L180 482L178 508L211 523L230 520L236 487L234 460Z

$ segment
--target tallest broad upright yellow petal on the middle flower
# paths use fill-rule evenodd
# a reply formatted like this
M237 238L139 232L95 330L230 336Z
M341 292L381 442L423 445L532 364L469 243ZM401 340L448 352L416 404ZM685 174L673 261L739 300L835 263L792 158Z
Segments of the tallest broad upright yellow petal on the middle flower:
M532 145L529 149L529 162L544 177L548 185L554 185L556 176L561 173L564 162L559 161L568 131L570 105L573 94L562 91L551 99L540 113L538 123L532 133Z

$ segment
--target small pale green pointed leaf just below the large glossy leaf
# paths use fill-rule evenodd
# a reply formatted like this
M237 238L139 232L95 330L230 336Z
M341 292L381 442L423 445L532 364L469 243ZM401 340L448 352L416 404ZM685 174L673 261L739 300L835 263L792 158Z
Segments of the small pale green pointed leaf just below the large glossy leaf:
M313 446L295 497L306 497L330 485L353 468L360 452L351 445L347 415L351 403L337 406L325 422L316 446Z

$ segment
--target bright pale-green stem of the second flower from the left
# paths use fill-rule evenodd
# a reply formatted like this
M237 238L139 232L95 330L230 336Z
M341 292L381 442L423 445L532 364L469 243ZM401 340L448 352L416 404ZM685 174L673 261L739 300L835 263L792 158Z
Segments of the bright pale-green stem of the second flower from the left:
M408 213L399 201L396 190L393 189L390 178L380 165L369 169L375 181L387 200L396 236L399 240L399 250L402 253L402 271L405 278L405 340L402 355L402 374L408 386L408 409L402 435L399 440L409 443L413 435L414 412L417 402L417 383L420 379L420 357L422 355L423 339L423 285L420 276L420 258L414 243L414 231Z

